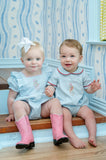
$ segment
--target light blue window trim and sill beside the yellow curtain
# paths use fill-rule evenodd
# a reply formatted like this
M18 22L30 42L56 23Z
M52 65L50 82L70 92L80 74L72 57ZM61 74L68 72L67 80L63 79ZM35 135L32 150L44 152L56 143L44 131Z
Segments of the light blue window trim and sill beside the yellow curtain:
M89 0L89 39L86 42L91 45L106 45L100 40L100 0Z

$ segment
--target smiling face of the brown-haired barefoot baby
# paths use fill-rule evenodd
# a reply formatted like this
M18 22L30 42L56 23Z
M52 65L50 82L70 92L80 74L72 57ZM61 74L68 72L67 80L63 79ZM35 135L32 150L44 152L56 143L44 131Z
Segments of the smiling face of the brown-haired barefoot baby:
M76 48L71 48L63 45L60 49L60 61L62 67L68 72L76 71L78 63L81 62L82 55Z

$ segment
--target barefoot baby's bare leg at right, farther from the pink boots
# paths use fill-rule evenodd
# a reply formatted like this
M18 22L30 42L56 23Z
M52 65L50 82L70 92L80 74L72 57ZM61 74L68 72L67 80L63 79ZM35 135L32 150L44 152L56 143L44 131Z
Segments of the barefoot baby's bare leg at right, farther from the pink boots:
M96 147L96 122L95 117L91 109L87 106L83 106L80 108L77 116L83 118L85 120L86 127L88 129L89 138L88 142L92 146Z

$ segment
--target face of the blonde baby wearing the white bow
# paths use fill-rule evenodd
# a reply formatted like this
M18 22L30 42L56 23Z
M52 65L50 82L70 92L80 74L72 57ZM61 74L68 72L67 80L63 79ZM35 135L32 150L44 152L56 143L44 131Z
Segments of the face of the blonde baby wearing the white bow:
M39 71L44 61L43 53L39 48L32 47L21 61L29 73Z

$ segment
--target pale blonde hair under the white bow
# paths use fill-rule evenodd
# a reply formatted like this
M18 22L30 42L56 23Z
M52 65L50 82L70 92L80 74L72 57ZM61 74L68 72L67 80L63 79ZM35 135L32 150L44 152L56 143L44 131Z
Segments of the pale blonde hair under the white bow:
M29 50L31 48L39 48L41 53L42 53L42 56L44 57L44 49L43 49L43 47L38 42L33 42L33 43L35 44L35 46L31 45ZM29 50L27 52L25 52L24 47L22 47L22 49L21 49L21 57L24 58L24 56L29 52Z

